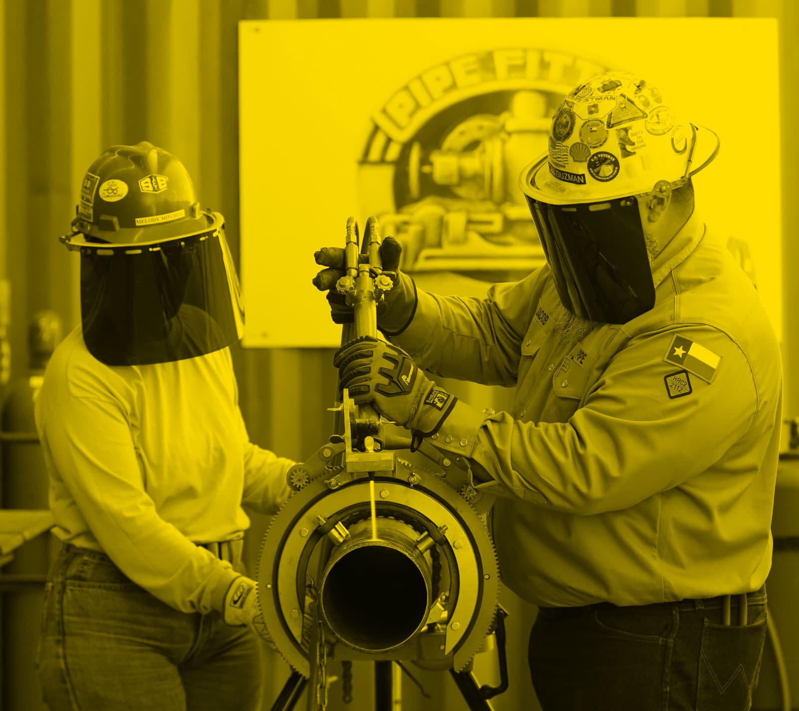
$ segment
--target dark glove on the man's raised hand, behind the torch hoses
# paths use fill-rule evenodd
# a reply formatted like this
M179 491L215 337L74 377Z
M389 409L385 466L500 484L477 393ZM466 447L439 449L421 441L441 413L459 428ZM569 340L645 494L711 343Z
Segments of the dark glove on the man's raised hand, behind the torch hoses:
M383 299L377 304L379 326L381 319L388 320L390 316L392 322L398 324L399 328L411 320L415 307L413 280L406 276L405 279L410 284L401 284L400 256L402 256L402 245L394 237L384 237L383 243L380 244L380 258L383 262L383 272L392 278L394 285L388 292L384 292ZM313 285L320 292L327 290L333 323L351 324L354 320L352 306L347 304L343 294L336 291L336 282L344 276L344 248L323 247L314 252L313 257L316 264L326 267L313 278Z

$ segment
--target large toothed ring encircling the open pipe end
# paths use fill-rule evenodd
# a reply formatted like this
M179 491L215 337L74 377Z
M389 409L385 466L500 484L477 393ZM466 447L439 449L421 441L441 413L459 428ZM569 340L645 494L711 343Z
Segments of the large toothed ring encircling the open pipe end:
M400 520L418 515L411 523L414 526L447 524L446 543L437 545L442 562L458 573L456 587L451 589L455 602L448 607L446 652L430 661L449 660L451 668L461 671L491 631L499 604L499 564L491 535L475 506L435 477L425 477L410 487L401 476L407 477L415 468L398 463L397 477L378 478L391 492L386 500L376 502L378 514ZM316 517L324 514L328 526L337 520L336 511L350 511L345 518L360 517L361 507L369 506L368 488L367 479L356 479L335 490L330 490L324 479L308 483L272 518L261 542L256 574L261 612L280 656L306 677L310 675L307 645L302 644L306 600L300 600L300 595L305 597L312 552L325 535ZM452 630L456 618L460 626ZM414 641L408 644L411 649Z

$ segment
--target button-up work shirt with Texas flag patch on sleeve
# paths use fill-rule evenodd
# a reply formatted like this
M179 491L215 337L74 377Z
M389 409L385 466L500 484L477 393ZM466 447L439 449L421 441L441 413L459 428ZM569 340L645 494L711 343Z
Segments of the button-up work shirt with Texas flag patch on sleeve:
M515 386L463 401L429 441L504 485L503 579L539 606L757 590L769 573L781 358L757 292L694 215L652 265L654 308L564 344L548 266L484 300L419 292L392 341L443 377ZM412 298L411 280L402 288ZM381 326L382 328L382 326Z

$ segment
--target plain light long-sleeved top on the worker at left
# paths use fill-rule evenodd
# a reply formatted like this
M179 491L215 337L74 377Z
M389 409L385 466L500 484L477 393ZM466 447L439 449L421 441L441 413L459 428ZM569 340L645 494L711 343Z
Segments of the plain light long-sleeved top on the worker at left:
M109 367L77 328L35 405L54 534L104 552L177 610L222 610L239 573L196 543L244 536L245 502L273 513L293 462L250 443L228 348Z

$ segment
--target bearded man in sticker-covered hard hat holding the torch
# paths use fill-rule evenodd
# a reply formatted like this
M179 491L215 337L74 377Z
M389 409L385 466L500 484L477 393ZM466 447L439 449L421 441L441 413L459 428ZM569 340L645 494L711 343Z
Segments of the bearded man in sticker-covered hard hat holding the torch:
M545 711L748 709L757 684L781 358L695 209L691 179L717 152L648 81L593 77L520 177L547 264L483 300L400 272L379 313L388 342L336 354L356 402L508 497L493 534L505 583L539 606ZM328 288L339 256L317 260ZM475 407L414 363L515 399Z

